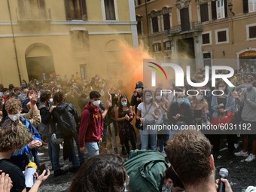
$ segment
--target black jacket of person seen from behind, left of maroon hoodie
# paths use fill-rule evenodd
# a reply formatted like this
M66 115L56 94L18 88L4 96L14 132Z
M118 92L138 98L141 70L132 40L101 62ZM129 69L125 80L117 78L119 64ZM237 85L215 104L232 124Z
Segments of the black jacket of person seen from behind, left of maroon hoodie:
M59 103L53 110L53 121L57 123L56 136L64 138L77 132L81 117L74 105L68 102Z

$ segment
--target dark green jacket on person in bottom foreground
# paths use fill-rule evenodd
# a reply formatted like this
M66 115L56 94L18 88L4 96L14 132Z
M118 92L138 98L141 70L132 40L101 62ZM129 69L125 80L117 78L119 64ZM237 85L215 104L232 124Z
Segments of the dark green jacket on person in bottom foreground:
M128 190L131 192L160 192L164 172L168 168L165 157L158 151L130 151L130 159L124 163L130 176Z

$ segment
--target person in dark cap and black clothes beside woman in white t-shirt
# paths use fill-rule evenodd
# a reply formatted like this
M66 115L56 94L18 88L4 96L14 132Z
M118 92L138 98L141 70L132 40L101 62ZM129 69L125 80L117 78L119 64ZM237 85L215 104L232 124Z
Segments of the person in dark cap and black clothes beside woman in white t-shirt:
M132 106L135 106L135 114L137 115L137 108L138 108L138 105L143 102L142 98L143 98L143 89L144 89L144 86L143 86L143 83L142 81L139 81L137 84L136 84L136 87L135 87L136 90L133 91L133 96L132 96L132 99L131 99L131 105ZM139 120L136 119L136 127L139 129Z

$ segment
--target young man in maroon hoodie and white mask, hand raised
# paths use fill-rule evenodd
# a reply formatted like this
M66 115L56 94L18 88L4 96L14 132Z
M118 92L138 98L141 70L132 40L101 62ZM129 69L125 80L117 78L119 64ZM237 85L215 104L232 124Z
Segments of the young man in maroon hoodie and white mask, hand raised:
M102 142L103 134L103 118L111 106L111 100L105 105L105 111L99 108L101 95L93 90L90 92L90 102L85 106L81 116L79 130L79 145L82 154L85 152L85 146L90 157L99 155L99 145ZM84 146L85 145L85 146Z

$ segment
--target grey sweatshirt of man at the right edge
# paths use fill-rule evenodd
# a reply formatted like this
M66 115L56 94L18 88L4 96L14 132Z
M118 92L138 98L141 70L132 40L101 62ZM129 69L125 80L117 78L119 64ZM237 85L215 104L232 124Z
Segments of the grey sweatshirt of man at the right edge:
M244 93L247 93L246 100L243 99ZM236 103L242 106L242 120L256 122L256 88L252 90L242 90L241 98L236 99Z

